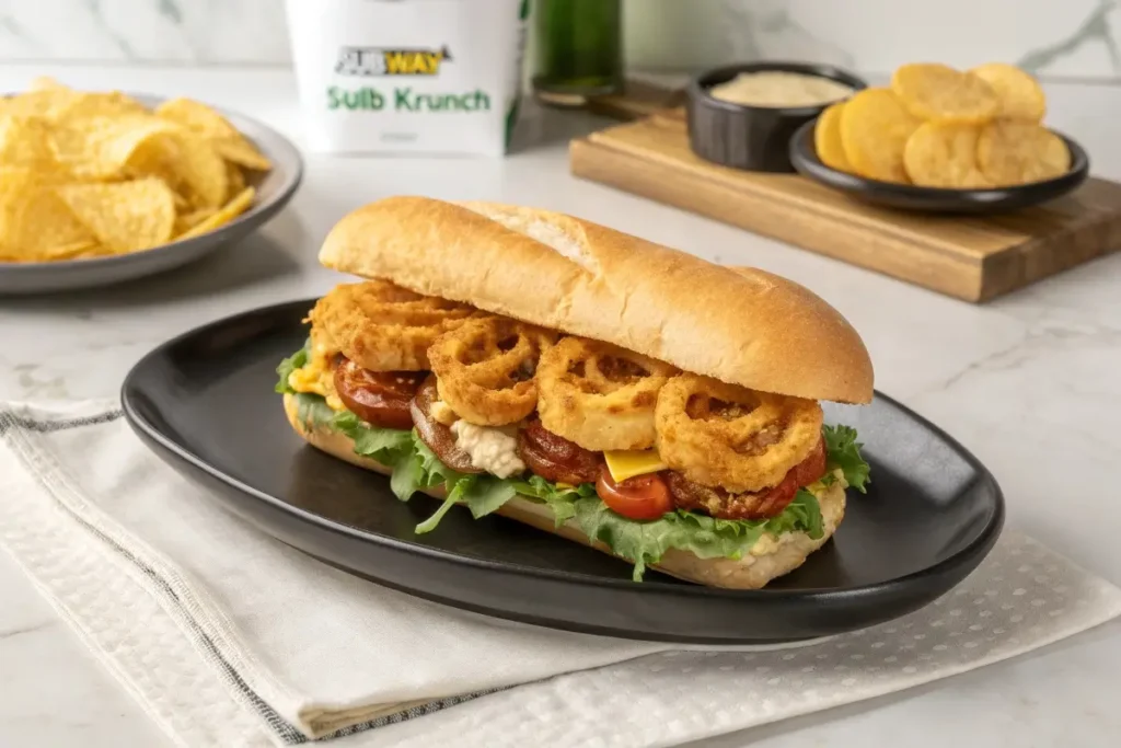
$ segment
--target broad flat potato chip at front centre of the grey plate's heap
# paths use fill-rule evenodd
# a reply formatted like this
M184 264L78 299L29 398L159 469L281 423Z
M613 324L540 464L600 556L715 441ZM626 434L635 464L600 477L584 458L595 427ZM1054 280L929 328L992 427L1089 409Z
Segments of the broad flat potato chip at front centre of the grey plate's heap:
M71 211L113 252L150 249L172 238L175 197L159 179L56 188Z

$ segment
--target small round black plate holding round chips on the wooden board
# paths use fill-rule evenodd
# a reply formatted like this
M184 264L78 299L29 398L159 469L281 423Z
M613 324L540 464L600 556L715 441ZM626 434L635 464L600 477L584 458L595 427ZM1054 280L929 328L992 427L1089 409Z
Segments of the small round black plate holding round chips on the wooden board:
M817 158L817 149L814 147L816 123L816 119L806 122L790 139L790 163L794 168L799 174L852 197L888 207L926 213L1001 213L1055 200L1077 187L1090 175L1086 151L1062 132L1056 132L1071 150L1071 170L1046 182L995 190L944 190L868 179L839 172Z

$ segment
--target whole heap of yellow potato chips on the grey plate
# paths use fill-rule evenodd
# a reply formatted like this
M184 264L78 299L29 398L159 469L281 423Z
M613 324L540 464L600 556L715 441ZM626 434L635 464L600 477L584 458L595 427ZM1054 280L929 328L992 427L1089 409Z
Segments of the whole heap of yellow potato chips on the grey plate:
M0 262L132 252L216 229L268 158L225 118L177 99L160 116L120 91L37 77L0 96Z

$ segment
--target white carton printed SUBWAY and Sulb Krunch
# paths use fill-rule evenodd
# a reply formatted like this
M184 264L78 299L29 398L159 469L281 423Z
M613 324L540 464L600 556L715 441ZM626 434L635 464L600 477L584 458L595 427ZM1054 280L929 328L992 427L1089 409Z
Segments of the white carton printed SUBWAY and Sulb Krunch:
M327 153L501 156L528 0L287 0L306 141Z

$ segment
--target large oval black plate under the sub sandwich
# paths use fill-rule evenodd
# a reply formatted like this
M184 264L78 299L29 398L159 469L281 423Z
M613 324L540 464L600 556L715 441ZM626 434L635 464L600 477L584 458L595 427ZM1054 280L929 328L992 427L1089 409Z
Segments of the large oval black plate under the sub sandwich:
M892 400L833 407L860 430L868 495L840 532L766 590L715 590L630 565L503 517L393 498L386 478L322 454L289 428L277 362L306 336L312 302L248 312L182 335L133 368L122 400L137 433L231 509L308 554L451 606L577 631L697 644L827 636L902 616L961 581L1000 533L1003 500L964 449Z

